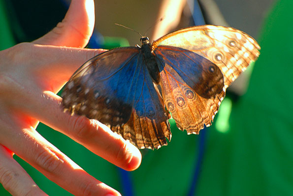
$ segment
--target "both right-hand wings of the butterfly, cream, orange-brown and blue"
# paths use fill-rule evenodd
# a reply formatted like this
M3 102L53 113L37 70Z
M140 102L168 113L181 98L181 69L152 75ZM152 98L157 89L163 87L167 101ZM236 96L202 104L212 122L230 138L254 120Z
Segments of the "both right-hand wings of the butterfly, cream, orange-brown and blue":
M211 124L228 85L260 54L249 35L221 26L181 29L152 47L166 108L188 134Z

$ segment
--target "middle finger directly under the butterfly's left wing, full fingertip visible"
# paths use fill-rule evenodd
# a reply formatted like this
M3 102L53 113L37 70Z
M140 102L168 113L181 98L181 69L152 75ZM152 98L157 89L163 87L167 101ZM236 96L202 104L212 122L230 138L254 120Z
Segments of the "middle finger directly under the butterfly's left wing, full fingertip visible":
M120 168L134 170L139 167L141 154L134 145L97 120L64 112L61 102L61 97L46 91L32 115Z

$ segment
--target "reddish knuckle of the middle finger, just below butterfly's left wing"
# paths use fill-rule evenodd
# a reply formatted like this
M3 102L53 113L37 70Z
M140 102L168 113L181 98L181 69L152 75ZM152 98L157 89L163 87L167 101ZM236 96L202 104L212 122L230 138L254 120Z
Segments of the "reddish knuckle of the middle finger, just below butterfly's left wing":
M87 140L94 134L92 123L85 116L71 116L68 127L78 140Z

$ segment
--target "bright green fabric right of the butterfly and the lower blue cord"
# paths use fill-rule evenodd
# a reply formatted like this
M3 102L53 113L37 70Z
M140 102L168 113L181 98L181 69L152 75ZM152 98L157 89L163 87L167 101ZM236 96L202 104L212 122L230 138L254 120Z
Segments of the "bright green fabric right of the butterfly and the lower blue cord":
M278 1L266 20L229 133L209 138L198 196L293 196L292 9L292 0Z

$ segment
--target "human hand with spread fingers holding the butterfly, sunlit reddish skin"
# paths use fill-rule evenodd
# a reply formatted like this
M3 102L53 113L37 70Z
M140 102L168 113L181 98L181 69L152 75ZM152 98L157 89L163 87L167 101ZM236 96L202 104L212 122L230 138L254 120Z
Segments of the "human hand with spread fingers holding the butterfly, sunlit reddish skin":
M35 131L39 121L118 167L133 170L140 164L135 146L96 120L63 112L55 94L82 63L103 51L81 49L93 27L93 0L72 0L52 31L0 51L0 183L13 196L46 195L14 153L73 195L120 195L42 138Z

